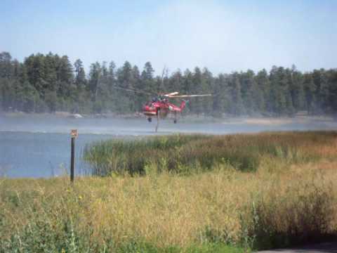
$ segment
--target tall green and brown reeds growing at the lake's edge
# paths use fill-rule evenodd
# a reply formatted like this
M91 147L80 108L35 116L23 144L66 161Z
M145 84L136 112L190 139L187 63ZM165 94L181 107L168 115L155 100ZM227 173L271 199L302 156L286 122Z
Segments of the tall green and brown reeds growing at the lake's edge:
M87 145L84 159L96 176L163 171L191 174L226 164L240 171L256 171L265 157L289 163L331 158L334 154L317 152L317 145L334 145L336 136L336 132L288 132L110 140Z

